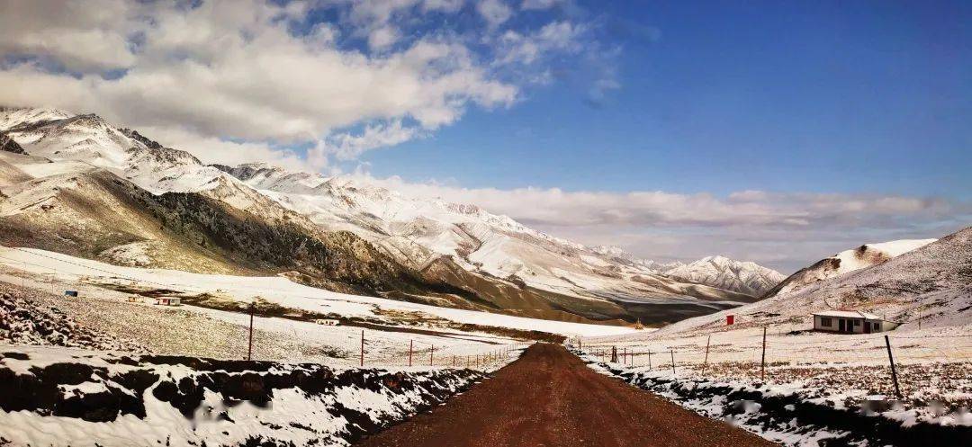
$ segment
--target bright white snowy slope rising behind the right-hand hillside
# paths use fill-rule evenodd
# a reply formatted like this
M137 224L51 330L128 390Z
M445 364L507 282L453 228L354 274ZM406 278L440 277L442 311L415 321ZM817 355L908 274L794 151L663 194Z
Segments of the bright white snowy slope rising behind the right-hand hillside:
M820 259L813 265L800 269L784 280L778 281L777 286L770 289L765 295L773 296L792 292L817 281L880 264L932 242L935 242L935 239L903 239L878 244L864 244L856 249L845 250L830 258Z

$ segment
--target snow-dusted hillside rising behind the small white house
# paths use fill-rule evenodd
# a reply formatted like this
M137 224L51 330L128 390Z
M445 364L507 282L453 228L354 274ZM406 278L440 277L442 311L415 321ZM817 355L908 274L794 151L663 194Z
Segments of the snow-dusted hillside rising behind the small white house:
M916 329L919 320L925 329L970 327L972 226L885 262L779 292L728 312L678 322L659 333L723 330L725 313L736 315L733 328L813 327L811 314L828 309L877 314L903 323L896 329L899 331Z

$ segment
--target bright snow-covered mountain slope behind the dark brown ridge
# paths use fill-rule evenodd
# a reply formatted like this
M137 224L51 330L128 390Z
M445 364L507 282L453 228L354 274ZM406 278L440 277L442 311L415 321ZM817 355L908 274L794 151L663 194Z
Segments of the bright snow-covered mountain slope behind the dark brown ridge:
M691 314L685 307L692 301L699 312L708 312L702 307L752 299L660 275L619 251L600 253L472 205L405 197L357 179L260 164L221 169L313 222L353 231L420 270L447 258L474 274L531 291L620 303L645 322L672 321L669 311L679 306ZM660 312L661 307L670 309Z

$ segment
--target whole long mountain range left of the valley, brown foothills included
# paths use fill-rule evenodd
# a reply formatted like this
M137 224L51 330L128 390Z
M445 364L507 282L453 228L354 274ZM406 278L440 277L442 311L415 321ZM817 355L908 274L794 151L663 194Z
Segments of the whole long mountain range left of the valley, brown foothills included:
M0 149L0 244L116 264L651 325L752 302L783 280L753 262L663 264L587 247L361 178L206 165L96 115L2 108Z

